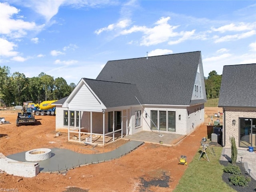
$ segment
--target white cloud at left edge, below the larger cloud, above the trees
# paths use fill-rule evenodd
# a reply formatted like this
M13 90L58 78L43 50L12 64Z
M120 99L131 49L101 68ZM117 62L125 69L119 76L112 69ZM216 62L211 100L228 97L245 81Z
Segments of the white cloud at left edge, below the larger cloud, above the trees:
M16 56L18 52L14 51L14 47L17 47L17 45L13 42L9 42L6 39L0 38L0 56Z

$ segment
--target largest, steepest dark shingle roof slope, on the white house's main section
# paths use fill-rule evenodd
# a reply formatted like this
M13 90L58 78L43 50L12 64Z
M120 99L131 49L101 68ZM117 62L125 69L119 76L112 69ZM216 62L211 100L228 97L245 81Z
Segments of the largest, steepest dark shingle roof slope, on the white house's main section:
M190 105L200 60L197 51L108 61L96 80L136 84L143 104Z

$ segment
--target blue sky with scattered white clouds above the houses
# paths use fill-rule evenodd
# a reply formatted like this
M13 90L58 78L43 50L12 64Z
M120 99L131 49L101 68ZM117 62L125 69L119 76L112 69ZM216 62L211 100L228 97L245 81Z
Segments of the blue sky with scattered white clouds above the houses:
M68 84L108 60L201 51L204 76L256 63L256 1L0 0L0 66Z

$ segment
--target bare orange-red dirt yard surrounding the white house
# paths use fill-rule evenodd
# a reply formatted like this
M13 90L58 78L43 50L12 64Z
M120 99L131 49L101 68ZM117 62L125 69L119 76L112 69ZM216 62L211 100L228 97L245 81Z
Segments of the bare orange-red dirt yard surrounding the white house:
M18 192L171 192L198 153L200 141L207 137L207 126L214 113L222 108L205 108L205 123L174 147L145 143L122 158L68 170L65 174L39 173L33 178L0 173L0 189ZM36 116L35 126L16 127L17 111L0 110L10 124L0 125L0 152L5 156L36 148L66 148L76 152L95 153L90 146L67 142L67 133L56 136L55 116ZM220 119L222 121L222 119ZM98 153L114 150L126 143L96 147ZM178 158L187 156L188 166Z

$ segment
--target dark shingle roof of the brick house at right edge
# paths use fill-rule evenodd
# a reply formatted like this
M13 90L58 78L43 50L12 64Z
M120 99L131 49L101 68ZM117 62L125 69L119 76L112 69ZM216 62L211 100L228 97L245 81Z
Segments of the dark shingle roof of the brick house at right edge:
M256 64L223 67L219 107L256 107Z

